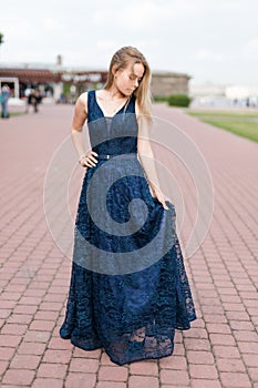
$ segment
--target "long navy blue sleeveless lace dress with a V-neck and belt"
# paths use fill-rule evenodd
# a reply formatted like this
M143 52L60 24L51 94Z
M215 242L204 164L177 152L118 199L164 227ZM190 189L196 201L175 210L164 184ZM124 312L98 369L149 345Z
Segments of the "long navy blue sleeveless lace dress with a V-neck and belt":
M87 127L99 162L82 184L60 336L117 365L169 356L196 314L174 205L151 195L137 159L135 98L105 118L90 91Z

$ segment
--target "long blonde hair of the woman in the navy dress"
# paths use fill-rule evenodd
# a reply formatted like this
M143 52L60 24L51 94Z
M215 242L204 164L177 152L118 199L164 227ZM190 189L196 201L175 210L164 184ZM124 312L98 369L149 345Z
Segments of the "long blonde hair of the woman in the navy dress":
M117 50L112 57L107 80L104 89L109 90L112 88L114 82L113 70L126 69L128 63L133 65L135 63L142 63L144 67L144 75L140 82L138 88L135 90L134 95L137 99L140 112L147 115L148 119L152 116L152 100L151 100L151 79L152 72L145 57L136 49L131 45L126 45Z

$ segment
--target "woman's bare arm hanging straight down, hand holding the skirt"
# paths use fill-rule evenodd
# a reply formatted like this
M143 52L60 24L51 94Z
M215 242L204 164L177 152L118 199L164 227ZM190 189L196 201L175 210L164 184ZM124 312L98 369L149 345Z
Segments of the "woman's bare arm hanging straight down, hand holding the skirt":
M149 123L146 116L138 115L138 137L137 137L137 151L141 164L145 171L151 193L168 210L164 195L159 187L156 166L153 150L149 141Z

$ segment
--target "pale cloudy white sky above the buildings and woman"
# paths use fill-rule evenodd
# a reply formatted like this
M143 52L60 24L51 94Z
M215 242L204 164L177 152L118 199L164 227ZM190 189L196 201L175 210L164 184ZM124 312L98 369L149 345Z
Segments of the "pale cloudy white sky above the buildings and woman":
M257 0L9 0L0 10L0 65L54 64L107 70L134 45L153 71L258 86Z

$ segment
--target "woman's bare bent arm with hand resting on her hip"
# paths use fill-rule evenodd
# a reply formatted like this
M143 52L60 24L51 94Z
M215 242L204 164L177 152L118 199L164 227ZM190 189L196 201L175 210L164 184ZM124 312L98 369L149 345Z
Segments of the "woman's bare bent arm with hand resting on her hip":
M79 154L80 164L85 167L92 167L95 165L95 163L97 163L97 161L93 156L93 155L96 155L96 153L91 151L86 155L83 134L82 134L83 125L87 118L86 105L87 105L87 93L83 93L79 96L74 108L73 121L72 121L72 140L73 140L74 147Z

